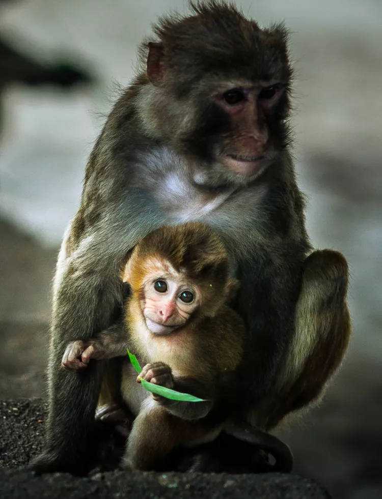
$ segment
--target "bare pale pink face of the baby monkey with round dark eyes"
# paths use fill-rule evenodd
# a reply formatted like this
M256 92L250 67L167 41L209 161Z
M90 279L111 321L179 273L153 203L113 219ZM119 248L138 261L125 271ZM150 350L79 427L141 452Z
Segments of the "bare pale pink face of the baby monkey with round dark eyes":
M166 335L183 326L200 304L200 291L178 273L166 273L145 283L143 315L148 329Z

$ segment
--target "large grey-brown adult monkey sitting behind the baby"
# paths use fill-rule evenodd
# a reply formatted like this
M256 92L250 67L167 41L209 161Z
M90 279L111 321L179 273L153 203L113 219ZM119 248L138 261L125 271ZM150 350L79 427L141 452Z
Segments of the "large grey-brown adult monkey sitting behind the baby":
M73 375L61 359L70 341L114 321L127 252L165 223L207 223L234 260L233 306L250 334L233 400L242 419L269 429L307 404L346 348L346 261L307 257L286 121L287 33L261 30L231 4L191 7L154 26L157 41L142 46L147 71L116 103L87 165L54 281L38 472L88 470L103 362Z

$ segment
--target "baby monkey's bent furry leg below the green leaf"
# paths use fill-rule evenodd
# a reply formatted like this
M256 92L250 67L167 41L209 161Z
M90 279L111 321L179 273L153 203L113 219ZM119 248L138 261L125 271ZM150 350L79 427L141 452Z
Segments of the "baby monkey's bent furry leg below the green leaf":
M166 468L166 458L178 446L202 443L214 436L210 426L177 418L147 398L133 423L122 466L161 471L163 466Z

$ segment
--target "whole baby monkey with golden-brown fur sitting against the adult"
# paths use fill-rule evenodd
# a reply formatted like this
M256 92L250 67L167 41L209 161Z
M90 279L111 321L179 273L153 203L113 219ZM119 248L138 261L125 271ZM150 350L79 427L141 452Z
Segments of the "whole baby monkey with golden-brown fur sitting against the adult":
M175 448L211 441L222 431L227 416L220 404L229 397L245 339L242 319L227 305L238 281L222 241L201 223L150 233L133 249L121 277L131 288L123 326L70 343L62 365L76 370L91 359L125 357L118 382L116 363L108 363L98 414L112 417L118 413L112 402L122 399L135 417L123 465L160 469ZM138 378L127 348L144 365ZM151 394L141 377L204 401Z

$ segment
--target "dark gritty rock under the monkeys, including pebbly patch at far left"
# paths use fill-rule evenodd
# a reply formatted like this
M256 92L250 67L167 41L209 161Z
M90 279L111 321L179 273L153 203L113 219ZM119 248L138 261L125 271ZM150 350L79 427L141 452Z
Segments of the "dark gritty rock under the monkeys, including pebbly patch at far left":
M282 474L226 475L110 472L91 478L68 474L35 476L25 465L42 445L46 404L40 399L0 402L0 497L68 499L134 497L203 499L328 499L313 480ZM20 466L22 466L20 468Z

